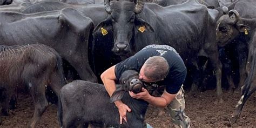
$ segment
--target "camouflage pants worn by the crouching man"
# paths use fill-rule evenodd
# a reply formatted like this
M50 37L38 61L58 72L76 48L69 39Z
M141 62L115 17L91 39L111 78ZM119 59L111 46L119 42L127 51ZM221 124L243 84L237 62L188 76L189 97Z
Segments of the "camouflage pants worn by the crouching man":
M167 107L171 116L172 123L175 125L175 127L190 127L190 118L187 117L184 112L185 99L182 86L176 97Z

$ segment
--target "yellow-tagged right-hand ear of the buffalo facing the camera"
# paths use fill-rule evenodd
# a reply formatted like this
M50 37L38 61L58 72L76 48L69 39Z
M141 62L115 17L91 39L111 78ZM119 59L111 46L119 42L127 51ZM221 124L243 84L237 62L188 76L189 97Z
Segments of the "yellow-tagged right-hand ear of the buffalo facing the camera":
M142 18L136 17L135 21L134 21L134 24L136 26L136 29L139 30L140 32L144 32L144 31L154 32L153 27L149 23L146 23L144 21L144 19L142 19ZM144 31L141 30L141 27L143 27Z

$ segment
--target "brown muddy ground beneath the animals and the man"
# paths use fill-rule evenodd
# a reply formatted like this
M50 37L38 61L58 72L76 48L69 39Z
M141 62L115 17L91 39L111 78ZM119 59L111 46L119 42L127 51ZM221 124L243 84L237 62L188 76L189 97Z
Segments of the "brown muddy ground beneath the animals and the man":
M241 116L233 127L256 127L256 98L248 99ZM191 118L192 127L230 127L228 119L239 100L239 93L224 92L224 103L214 104L215 91L207 90L198 95L185 95L186 114ZM153 127L173 127L166 109L154 109L150 106L146 121ZM33 114L32 98L19 95L18 107L10 112L10 116L3 117L0 127L26 127ZM48 107L39 121L38 127L59 127L57 122L57 106Z

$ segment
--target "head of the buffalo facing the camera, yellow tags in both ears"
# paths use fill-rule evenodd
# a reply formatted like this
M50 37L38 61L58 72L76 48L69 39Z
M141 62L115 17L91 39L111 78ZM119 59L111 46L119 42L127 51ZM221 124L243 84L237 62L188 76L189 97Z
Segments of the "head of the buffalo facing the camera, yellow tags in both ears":
M112 51L118 56L125 56L131 51L131 40L136 32L153 31L149 23L137 17L143 10L144 2L116 1L110 4L110 0L104 0L104 4L109 16L96 26L94 32L102 31L104 35L113 31Z

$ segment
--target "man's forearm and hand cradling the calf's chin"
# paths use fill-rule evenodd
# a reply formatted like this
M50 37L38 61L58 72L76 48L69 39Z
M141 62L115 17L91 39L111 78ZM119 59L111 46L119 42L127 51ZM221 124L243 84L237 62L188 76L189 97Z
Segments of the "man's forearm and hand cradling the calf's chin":
M131 97L136 98L136 99L143 99L146 102L154 105L154 106L158 106L158 107L166 107L167 105L169 105L172 100L174 99L174 97L176 97L176 94L170 94L168 92L166 92L166 90L164 90L164 93L161 97L153 97L149 94L149 92L146 89L142 89L142 92L140 93L133 93L132 91L129 92Z

